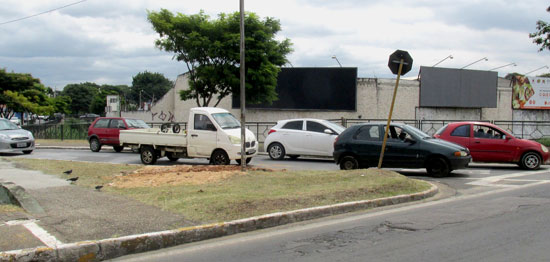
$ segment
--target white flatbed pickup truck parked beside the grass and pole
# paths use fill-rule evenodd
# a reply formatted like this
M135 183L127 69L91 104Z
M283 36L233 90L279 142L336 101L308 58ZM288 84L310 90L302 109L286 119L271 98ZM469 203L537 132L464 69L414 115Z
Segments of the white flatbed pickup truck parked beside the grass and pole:
M160 157L171 161L179 158L208 158L211 164L240 163L241 125L227 110L215 107L195 107L189 111L187 130L175 133L158 128L122 130L120 144L139 149L141 162L154 164ZM258 141L246 129L246 162L258 153Z

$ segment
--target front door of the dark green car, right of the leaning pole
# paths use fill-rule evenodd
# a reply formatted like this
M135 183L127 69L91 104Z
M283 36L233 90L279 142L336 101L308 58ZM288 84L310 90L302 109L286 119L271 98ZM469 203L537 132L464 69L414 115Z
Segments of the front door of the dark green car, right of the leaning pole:
M386 127L384 126L384 129ZM382 166L385 167L421 167L418 143L403 128L390 126Z

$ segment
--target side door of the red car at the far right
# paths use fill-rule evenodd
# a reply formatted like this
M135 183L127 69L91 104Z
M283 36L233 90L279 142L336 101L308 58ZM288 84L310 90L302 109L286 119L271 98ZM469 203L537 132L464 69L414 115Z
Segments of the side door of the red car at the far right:
M505 133L489 125L474 125L470 138L470 154L473 161L507 162L512 161L516 146Z

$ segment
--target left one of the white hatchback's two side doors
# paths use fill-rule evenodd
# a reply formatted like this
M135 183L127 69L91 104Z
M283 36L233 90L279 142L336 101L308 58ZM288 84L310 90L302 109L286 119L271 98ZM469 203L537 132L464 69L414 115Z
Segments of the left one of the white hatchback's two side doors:
M281 143L285 147L286 154L307 154L304 149L306 131L304 131L303 120L289 121L277 132L281 132Z

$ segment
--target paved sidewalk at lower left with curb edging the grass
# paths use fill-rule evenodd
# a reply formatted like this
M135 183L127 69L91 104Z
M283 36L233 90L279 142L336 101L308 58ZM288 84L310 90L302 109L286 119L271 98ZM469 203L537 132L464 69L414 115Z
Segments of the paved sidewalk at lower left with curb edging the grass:
M0 184L6 182L24 188L39 208L0 212L0 236L9 236L0 238L0 261L101 261L239 232L417 201L438 192L432 185L431 189L412 195L196 225L181 214L81 188L64 179L40 171L18 169L10 162L0 161Z

